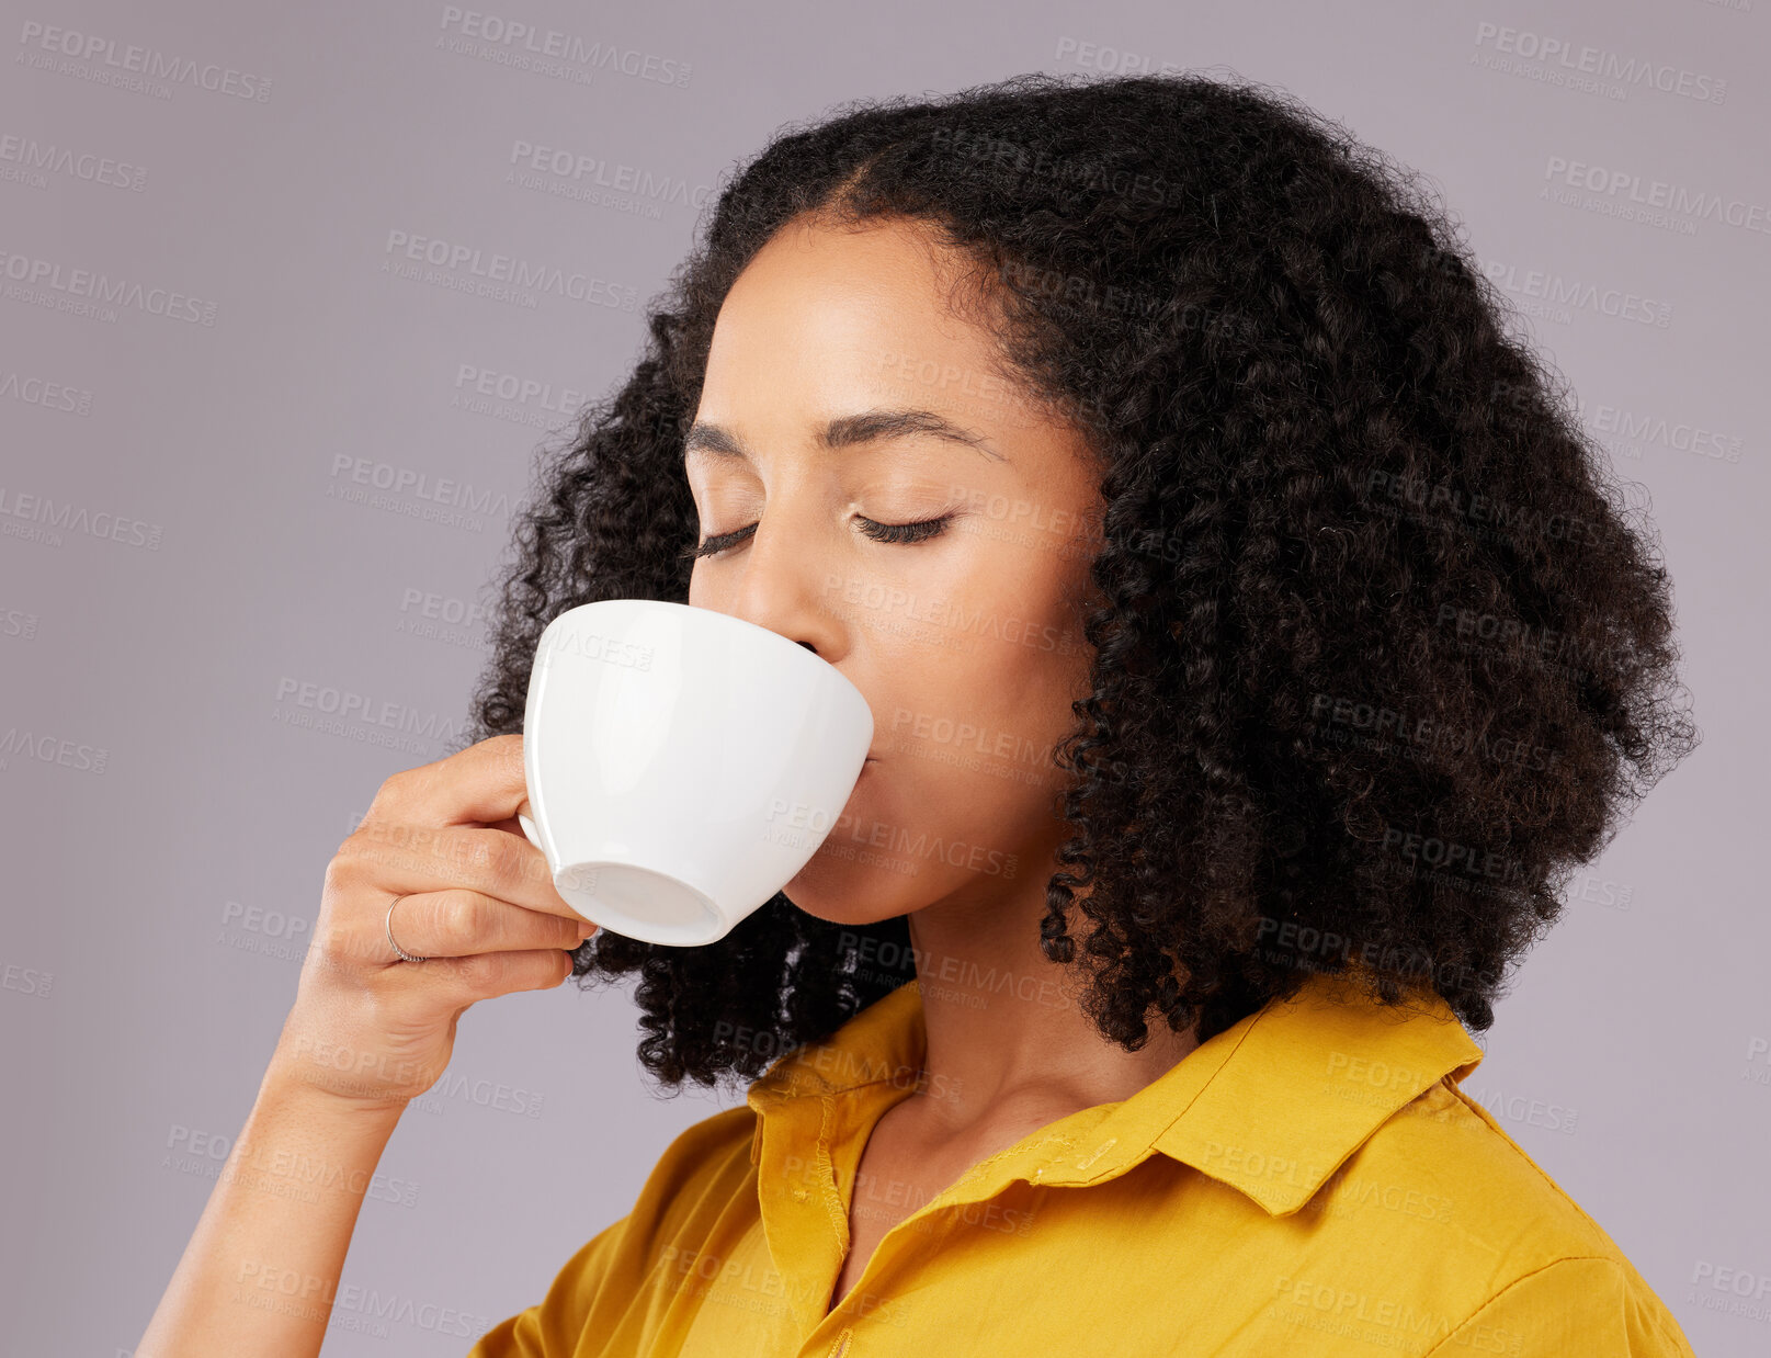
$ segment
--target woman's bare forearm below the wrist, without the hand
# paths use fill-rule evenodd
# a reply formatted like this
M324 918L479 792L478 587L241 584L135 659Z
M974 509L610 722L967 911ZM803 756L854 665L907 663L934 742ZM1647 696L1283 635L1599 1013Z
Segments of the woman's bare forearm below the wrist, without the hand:
M136 1358L312 1358L398 1108L267 1075Z

